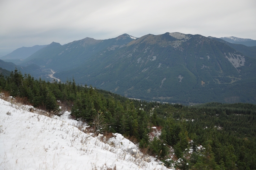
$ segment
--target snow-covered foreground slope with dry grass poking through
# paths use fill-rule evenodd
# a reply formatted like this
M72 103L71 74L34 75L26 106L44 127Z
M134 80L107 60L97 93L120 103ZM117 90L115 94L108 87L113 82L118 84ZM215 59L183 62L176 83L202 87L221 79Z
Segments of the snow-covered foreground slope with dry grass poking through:
M1 170L167 169L121 134L105 141L81 132L81 122L68 119L68 112L52 118L38 113L44 112L0 99Z

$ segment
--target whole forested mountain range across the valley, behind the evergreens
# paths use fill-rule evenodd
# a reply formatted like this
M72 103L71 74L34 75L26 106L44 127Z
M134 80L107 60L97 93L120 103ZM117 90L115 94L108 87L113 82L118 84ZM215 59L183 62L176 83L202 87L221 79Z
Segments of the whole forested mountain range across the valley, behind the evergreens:
M52 42L24 61L128 98L256 104L256 48L182 33Z

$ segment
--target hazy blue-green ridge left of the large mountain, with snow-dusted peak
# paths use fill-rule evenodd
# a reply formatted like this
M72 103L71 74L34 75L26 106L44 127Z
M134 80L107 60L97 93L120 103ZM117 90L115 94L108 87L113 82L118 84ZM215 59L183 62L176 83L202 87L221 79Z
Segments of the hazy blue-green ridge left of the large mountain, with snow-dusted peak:
M59 43L52 42L45 48L29 56L29 58L26 58L23 64L37 64L38 66L53 68L56 71L73 69L103 49L113 51L122 48L122 46L134 39L136 38L128 34L123 34L108 40L95 40L86 37L63 46Z

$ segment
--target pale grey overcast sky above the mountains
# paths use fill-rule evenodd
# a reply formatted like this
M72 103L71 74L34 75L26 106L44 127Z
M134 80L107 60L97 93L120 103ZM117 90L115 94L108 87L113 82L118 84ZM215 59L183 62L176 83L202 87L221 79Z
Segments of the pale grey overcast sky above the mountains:
M52 41L166 32L256 40L256 0L0 0L0 56Z

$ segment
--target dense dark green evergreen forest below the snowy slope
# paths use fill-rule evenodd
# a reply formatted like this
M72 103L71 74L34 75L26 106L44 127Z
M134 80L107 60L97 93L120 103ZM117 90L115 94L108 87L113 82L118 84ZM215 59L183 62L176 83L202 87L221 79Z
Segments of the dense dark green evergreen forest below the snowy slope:
M104 90L35 80L17 69L0 75L0 89L26 98L34 107L56 114L57 101L71 107L71 114L87 121L95 133L112 132L136 138L140 148L171 166L186 170L256 169L256 106L209 103L196 107L129 100ZM151 127L161 128L153 140ZM200 147L202 145L202 147ZM174 155L172 155L174 153Z

